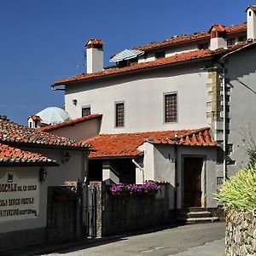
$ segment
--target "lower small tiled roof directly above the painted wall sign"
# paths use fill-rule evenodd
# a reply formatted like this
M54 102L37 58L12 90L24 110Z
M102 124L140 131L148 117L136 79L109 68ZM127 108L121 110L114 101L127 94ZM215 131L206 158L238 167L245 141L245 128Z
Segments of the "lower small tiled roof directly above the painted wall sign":
M26 163L57 166L55 160L51 160L42 154L32 153L0 143L0 166L6 164L22 165Z

